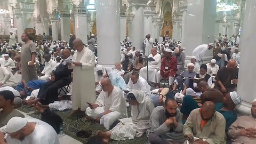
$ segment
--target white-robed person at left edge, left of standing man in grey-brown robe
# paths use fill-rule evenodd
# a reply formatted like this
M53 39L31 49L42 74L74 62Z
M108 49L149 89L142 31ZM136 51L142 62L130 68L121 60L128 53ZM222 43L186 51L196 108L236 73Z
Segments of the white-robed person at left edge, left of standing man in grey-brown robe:
M4 86L15 87L17 86L17 81L12 72L0 64L0 87Z

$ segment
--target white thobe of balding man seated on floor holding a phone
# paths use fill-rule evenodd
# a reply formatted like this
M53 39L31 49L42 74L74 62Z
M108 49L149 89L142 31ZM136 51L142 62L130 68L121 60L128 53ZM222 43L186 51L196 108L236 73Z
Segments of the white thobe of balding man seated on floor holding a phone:
M127 117L124 94L119 87L114 86L114 89L110 95L108 95L108 92L101 91L95 103L99 105L99 107L95 109L88 107L86 108L85 114L95 119L97 116L99 116L99 114L110 110L110 113L103 115L100 118L100 124L103 125L107 130L109 130L109 127L117 119Z

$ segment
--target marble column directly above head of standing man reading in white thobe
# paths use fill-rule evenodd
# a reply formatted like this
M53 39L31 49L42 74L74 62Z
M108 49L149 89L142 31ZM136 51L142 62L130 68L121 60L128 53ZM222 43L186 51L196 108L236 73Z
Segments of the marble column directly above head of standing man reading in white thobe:
M80 38L84 44L87 44L87 15L86 7L79 5L79 7L73 8L73 13L75 17L75 34L76 38Z

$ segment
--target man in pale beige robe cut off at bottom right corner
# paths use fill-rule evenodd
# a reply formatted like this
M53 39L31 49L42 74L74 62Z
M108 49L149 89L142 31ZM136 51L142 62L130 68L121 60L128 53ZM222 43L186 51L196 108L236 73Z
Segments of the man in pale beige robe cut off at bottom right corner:
M252 115L250 116L238 117L238 119L229 127L228 135L232 139L232 144L256 143L256 99L252 101L251 114Z

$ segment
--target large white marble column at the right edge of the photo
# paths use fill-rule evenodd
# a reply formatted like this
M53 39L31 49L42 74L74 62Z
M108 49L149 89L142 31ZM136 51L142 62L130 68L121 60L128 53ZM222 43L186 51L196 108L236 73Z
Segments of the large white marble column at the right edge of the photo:
M255 46L256 35L256 19L254 15L256 13L256 1L255 0L246 0L245 12L247 15L244 17L242 22L242 32L239 43L239 50L241 50L240 56L240 65L239 65L239 77L237 84L237 92L241 95L242 103L241 105L236 106L236 110L239 115L249 115L251 114L251 103L255 98L253 95L256 92L255 81L256 77L255 71L256 67L249 66L254 61L256 49L247 50L248 47Z

